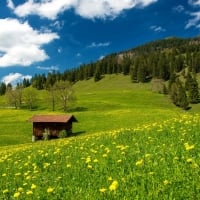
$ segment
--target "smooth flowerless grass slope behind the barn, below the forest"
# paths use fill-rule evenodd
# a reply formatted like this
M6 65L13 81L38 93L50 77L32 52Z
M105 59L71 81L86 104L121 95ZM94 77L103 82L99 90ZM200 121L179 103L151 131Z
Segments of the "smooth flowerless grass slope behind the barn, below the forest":
M91 134L119 128L133 128L139 124L162 121L179 115L167 96L153 93L151 84L133 84L129 76L107 75L101 81L79 81L74 85L77 96L68 113L74 114L73 132ZM0 97L5 106L5 97ZM31 142L35 114L63 114L60 107L51 111L46 91L38 91L37 109L0 109L0 146ZM1 107L0 106L0 107Z

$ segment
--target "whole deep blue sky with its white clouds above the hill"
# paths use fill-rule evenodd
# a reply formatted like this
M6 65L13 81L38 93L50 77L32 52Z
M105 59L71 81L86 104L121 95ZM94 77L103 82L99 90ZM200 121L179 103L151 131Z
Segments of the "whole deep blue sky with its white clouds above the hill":
M200 33L200 0L1 0L0 82Z

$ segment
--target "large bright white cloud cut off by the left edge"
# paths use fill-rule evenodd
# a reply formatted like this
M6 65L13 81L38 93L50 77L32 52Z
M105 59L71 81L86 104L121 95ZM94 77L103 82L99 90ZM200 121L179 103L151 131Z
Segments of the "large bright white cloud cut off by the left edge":
M42 46L59 36L33 30L27 22L17 19L0 19L0 67L28 66L44 61L48 55Z

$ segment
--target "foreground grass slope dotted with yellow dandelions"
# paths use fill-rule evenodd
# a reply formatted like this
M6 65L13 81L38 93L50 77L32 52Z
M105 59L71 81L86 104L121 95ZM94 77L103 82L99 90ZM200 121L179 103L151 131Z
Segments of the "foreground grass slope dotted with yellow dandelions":
M200 199L200 116L0 148L1 199Z

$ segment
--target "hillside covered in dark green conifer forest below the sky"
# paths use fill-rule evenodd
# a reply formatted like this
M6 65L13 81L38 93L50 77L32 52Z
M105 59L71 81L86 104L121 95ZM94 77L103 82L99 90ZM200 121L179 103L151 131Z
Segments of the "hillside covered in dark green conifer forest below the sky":
M169 94L175 105L188 109L190 103L199 102L196 79L196 74L200 72L199 44L199 37L157 40L63 73L36 74L30 82L24 80L18 87L31 84L38 90L51 89L60 80L76 83L94 78L94 81L99 81L105 74L122 73L129 75L133 83L159 80L159 92ZM11 85L1 83L0 94L5 94L7 88Z

